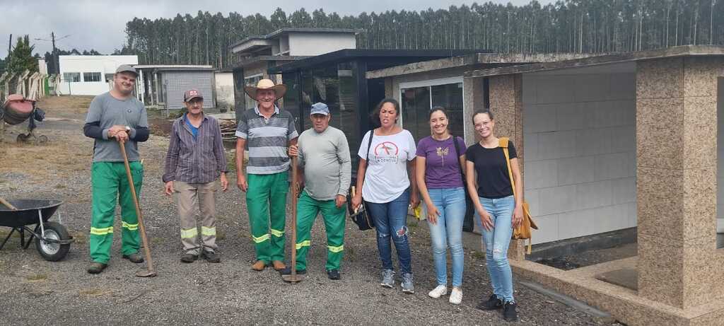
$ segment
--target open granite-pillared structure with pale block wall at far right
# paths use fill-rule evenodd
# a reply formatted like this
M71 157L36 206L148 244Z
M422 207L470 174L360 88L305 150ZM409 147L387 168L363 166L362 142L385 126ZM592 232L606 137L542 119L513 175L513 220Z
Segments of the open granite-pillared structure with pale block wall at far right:
M465 80L466 111L488 92L497 133L518 146L541 227L534 239L637 227L637 256L568 271L524 260L516 241L514 272L627 325L722 325L724 47L497 67ZM617 274L632 280L602 277Z

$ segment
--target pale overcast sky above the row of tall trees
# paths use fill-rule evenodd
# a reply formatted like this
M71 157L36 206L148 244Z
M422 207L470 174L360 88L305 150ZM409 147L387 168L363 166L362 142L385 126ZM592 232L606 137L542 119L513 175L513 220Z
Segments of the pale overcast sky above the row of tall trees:
M483 3L488 0L479 0ZM527 4L529 0L492 0L493 2L515 5ZM552 0L539 0L542 4ZM277 1L249 1L249 0L156 0L156 1L106 1L106 0L0 0L0 58L7 57L9 35L12 34L13 44L17 36L30 35L31 43L35 44L35 51L45 54L51 51L50 41L35 40L43 38L50 40L51 32L55 32L59 49L90 50L102 54L110 54L114 49L120 49L125 43L125 25L133 17L174 17L177 13L190 13L195 15L198 10L208 11L212 14L222 12L228 16L229 12L239 12L243 15L264 14L269 15L274 9L281 7L287 15L296 9L304 7L311 14L314 9L322 8L327 14L337 12L344 15L357 15L361 12L384 12L387 10L424 10L441 9L450 5L472 4L473 1L461 0L366 0L366 1L340 1L340 0L277 0ZM65 35L69 35L63 38Z

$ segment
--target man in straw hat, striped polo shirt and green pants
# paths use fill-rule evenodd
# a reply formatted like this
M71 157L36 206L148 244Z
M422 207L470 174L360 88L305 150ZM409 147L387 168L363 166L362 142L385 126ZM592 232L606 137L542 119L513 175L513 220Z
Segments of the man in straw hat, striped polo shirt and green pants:
M270 263L282 270L284 264L285 220L289 190L290 159L287 149L296 145L298 133L294 117L274 104L284 96L287 86L262 79L245 87L256 106L246 110L236 129L236 184L246 192L246 207L251 238L256 245L256 262L251 266L262 271ZM244 149L249 162L244 175Z

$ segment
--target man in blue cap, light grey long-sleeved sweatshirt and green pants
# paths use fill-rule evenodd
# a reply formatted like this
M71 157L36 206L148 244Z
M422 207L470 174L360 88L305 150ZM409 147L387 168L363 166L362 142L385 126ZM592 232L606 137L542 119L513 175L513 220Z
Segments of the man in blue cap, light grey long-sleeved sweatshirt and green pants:
M350 147L342 130L329 127L329 107L316 103L310 112L313 128L305 130L289 155L298 156L297 180L303 185L297 204L297 274L306 274L310 231L321 212L327 230L327 276L339 280L345 239L345 202L352 178ZM290 274L291 269L282 271Z

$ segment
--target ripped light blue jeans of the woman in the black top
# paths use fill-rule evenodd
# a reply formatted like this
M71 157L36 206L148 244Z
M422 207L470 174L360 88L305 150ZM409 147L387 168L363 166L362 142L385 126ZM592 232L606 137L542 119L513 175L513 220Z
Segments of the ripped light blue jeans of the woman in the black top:
M490 214L493 223L492 230L485 230L480 222L480 215L475 213L475 222L483 232L483 243L485 244L485 260L490 275L490 283L493 286L493 293L503 302L513 300L513 272L508 263L508 246L510 237L513 236L513 209L515 209L515 197L504 198L483 198L480 197L480 204L485 212Z

